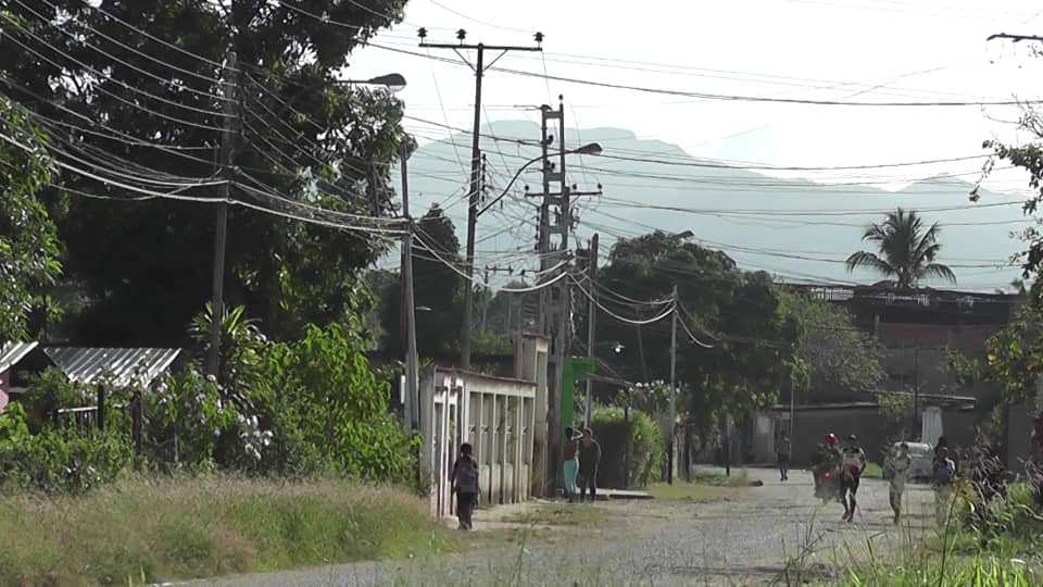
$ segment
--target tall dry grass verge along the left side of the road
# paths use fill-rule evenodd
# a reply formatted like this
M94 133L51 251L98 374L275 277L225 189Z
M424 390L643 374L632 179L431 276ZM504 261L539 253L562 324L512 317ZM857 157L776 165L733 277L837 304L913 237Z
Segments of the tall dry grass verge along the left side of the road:
M83 498L0 498L0 585L198 578L453 550L425 502L393 487L129 479Z

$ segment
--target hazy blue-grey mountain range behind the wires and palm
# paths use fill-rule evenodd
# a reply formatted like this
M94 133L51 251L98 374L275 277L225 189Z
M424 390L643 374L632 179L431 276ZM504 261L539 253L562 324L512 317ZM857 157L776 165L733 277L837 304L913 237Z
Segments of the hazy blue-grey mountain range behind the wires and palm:
M539 139L539 126L528 121L497 122L482 133L502 138L481 139L491 198L527 160L539 155L539 149L531 146ZM722 168L726 163L692 158L675 145L638 138L621 128L567 129L566 141L569 147L599 142L605 155L673 163L570 157L570 182L580 190L595 190L601 183L604 193L577 199L576 236L582 242L594 232L600 233L602 243L611 245L618 237L653 228L692 230L705 246L726 251L747 270L765 270L794 280L869 284L877 280L876 275L849 274L843 260L863 248L866 225L881 220L883 211L902 205L942 223L941 261L953 265L957 288L991 291L1019 275L1016 267L993 268L1022 248L1009 237L1011 230L1026 226L1021 209L1002 203L1020 201L1016 195L983 190L979 204L970 207L967 196L972 185L954 177L926 179L899 191L881 189L879 180L868 176L862 184L849 179L839 185L772 177L752 170ZM410 160L414 215L433 203L444 204L461 242L465 241L463 200L469 158L469 137L455 135L424 145ZM538 164L523 174L502 209L490 210L479 221L479 267L490 260L526 265L522 261L525 251L536 243L536 199L523 197L522 187L528 184L533 193L540 190L537 170ZM858 176L859 172L844 174ZM530 203L524 203L526 200ZM643 208L634 208L636 203ZM513 260L504 257L506 251L516 251ZM925 285L946 287L943 283Z

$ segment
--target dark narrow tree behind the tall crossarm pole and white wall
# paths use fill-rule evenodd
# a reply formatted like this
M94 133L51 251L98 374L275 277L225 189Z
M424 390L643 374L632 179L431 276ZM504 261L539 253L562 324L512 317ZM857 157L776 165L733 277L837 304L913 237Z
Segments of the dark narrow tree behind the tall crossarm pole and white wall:
M460 240L453 221L437 204L416 223L416 230L425 246L435 249L433 253L422 247L413 249L416 347L422 354L447 353L457 348L463 322L464 279L445 264L461 265ZM386 283L380 300L384 347L401 352L405 349L405 323L400 275Z

